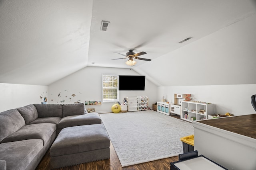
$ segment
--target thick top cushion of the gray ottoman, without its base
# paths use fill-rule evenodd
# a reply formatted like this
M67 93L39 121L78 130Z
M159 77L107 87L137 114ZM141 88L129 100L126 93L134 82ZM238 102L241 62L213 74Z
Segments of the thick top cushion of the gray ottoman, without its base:
M55 139L50 155L74 154L108 147L110 139L103 124L67 127Z

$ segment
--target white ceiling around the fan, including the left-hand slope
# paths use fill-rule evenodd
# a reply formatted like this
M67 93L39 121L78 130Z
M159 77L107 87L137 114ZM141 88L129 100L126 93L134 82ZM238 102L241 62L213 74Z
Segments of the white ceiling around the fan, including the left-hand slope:
M49 85L86 66L131 68L255 14L254 0L0 0L0 82ZM110 21L100 31L101 21ZM187 37L192 39L178 43ZM136 60L136 66L148 61ZM94 63L94 64L92 64Z

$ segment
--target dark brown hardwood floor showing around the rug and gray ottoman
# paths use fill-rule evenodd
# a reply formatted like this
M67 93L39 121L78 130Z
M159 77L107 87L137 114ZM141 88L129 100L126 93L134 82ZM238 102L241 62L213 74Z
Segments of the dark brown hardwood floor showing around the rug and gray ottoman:
M171 116L180 118L178 115ZM176 161L178 161L178 156L122 167L111 143L110 159L59 168L58 170L170 170L170 162ZM36 170L50 169L50 150L48 150Z

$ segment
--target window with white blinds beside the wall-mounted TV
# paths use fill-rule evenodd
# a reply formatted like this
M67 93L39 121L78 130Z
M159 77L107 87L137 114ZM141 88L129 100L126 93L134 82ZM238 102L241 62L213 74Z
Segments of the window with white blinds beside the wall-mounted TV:
M118 94L118 75L103 75L102 102L117 102Z

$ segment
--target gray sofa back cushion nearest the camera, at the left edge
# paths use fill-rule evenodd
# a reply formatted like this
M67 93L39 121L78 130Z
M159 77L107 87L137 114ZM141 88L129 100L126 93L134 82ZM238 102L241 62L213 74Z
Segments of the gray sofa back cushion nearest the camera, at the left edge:
M0 141L25 126L25 120L17 109L0 113Z

